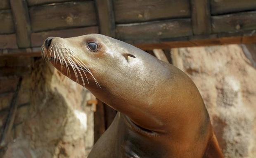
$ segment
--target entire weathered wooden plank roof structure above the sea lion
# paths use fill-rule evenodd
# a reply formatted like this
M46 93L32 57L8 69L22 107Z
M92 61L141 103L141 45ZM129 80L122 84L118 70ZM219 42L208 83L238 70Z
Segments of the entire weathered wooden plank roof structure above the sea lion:
M0 0L0 55L90 33L144 50L256 43L256 0Z

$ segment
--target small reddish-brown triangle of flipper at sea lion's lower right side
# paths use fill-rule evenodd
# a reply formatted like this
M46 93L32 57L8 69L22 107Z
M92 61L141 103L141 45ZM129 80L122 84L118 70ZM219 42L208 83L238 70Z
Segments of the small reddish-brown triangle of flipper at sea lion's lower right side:
M224 158L219 147L217 138L214 134L211 140L208 142L208 147L204 153L203 158Z

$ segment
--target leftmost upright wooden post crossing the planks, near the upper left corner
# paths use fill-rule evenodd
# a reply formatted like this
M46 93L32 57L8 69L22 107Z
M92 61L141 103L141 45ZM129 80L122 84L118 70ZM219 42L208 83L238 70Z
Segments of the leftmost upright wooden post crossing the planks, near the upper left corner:
M31 27L26 0L10 0L19 48L31 47Z

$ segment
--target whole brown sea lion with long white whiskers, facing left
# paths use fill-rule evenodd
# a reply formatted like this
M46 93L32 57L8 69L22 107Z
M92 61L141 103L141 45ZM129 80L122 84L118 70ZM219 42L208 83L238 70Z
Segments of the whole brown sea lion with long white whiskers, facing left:
M175 66L100 34L48 37L42 55L118 111L88 158L223 158L197 87Z

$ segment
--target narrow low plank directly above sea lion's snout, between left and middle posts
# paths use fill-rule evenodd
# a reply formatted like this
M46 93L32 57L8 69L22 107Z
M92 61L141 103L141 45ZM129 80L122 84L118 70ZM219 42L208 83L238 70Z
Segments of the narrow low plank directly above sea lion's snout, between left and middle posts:
M43 41L50 36L68 38L68 37L76 37L76 36L81 36L81 35L91 34L91 33L98 33L98 32L99 31L97 26L67 29L67 30L37 32L37 33L31 34L31 40L32 40L32 46L38 47L38 46L41 46L43 44Z

